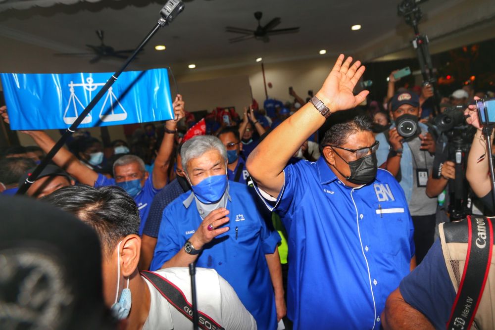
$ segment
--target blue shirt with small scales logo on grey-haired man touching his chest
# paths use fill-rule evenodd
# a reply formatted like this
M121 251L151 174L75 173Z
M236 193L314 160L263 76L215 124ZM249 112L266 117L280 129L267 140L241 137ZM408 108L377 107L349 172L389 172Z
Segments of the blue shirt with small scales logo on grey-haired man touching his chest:
M258 329L276 329L275 298L265 254L275 251L280 236L270 224L270 214L261 213L264 207L254 189L229 182L229 195L230 229L203 247L196 266L215 269L232 285ZM176 255L201 221L192 192L170 203L163 211L150 270L160 269Z

